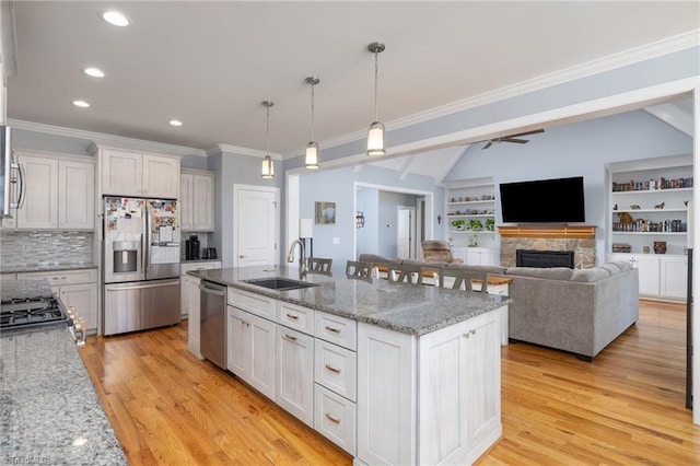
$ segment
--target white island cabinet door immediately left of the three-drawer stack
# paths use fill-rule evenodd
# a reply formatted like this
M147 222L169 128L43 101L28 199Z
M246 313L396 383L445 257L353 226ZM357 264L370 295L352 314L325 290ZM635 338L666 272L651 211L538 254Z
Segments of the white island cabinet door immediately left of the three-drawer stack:
M314 427L314 338L277 326L277 391L275 401Z

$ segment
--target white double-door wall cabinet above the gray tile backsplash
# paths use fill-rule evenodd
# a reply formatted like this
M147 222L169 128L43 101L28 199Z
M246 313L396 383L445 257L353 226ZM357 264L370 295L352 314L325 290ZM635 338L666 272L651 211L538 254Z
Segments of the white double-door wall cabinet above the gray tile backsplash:
M94 164L79 158L16 152L25 183L14 226L24 230L93 230ZM9 225L9 224L7 224Z

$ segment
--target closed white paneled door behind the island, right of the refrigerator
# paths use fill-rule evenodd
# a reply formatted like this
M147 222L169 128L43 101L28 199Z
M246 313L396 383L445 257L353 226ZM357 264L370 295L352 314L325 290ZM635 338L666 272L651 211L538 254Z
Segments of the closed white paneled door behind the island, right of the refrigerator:
M234 186L234 267L278 261L279 189Z

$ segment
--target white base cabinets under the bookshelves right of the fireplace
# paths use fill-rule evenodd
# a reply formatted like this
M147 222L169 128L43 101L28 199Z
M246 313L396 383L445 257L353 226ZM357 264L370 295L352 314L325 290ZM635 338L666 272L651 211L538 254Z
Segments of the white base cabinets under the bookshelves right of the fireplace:
M682 301L688 290L688 257L663 254L612 254L610 260L623 260L639 270L642 298Z

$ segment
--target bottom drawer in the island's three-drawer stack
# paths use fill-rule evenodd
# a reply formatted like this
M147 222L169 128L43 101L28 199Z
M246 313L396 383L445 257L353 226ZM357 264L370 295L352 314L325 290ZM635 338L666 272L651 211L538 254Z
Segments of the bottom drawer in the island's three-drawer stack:
M355 455L355 424L354 403L314 385L314 429L352 456Z

